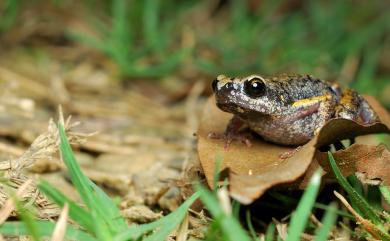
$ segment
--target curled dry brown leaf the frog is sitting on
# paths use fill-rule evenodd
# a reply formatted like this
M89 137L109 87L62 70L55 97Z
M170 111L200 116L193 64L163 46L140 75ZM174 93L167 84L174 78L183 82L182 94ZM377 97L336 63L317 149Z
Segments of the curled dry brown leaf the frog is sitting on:
M241 203L249 204L268 188L282 183L291 183L301 177L313 163L318 147L359 135L389 133L389 114L372 97L367 97L367 100L379 115L382 123L360 125L351 120L333 119L294 155L282 159L280 155L293 148L268 143L257 138L251 140L251 147L236 141L229 146L228 150L225 150L224 140L208 138L211 132L224 132L232 117L231 114L219 110L215 105L214 97L211 97L206 103L197 132L198 155L208 184L212 186L213 183L216 156L222 154L221 170L229 171L231 196Z

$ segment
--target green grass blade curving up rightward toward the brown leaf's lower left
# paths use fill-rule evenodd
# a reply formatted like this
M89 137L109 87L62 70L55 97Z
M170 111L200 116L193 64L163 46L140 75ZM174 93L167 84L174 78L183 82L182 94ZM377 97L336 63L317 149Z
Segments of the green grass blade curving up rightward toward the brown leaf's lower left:
M188 198L178 209L176 209L174 212L168 214L167 216L154 221L152 223L143 224L143 225L137 225L132 226L126 231L119 233L117 236L115 236L115 241L126 241L126 240L137 240L142 235L149 233L157 228L164 227L165 225L168 225L170 223L176 223L174 227L179 225L179 223L182 222L183 218L185 217L188 209L191 207L191 205L199 198L199 193L194 193L190 198ZM170 225L169 228L172 228L173 225ZM174 228L173 227L173 228ZM160 229L161 230L161 229ZM161 232L166 232L167 230L163 230ZM172 231L172 230L171 230ZM159 231L157 231L159 232ZM169 234L169 233L168 233ZM152 234L153 235L153 234ZM160 234L157 234L155 237L158 237ZM152 236L152 238L154 238ZM166 237L164 237L166 238ZM153 240L153 239L151 239Z

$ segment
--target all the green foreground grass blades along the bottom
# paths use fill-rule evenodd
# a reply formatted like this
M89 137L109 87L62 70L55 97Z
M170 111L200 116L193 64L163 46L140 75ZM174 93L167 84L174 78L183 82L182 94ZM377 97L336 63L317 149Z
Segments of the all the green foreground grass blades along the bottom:
M51 198L60 207L65 204L69 205L69 218L77 225L68 224L65 232L65 238L76 240L165 240L168 235L180 225L182 220L187 215L190 206L198 198L203 202L205 208L209 211L213 220L208 224L205 232L205 240L259 240L259 235L252 224L251 213L246 213L246 223L248 230L245 230L240 223L239 210L240 205L233 203L233 208L229 201L223 201L220 196L225 193L227 195L226 185L221 189L210 191L202 185L196 186L196 192L188 198L176 211L169 215L148 224L128 226L126 221L121 216L119 209L113 200L108 197L102 189L96 186L89 180L81 171L72 149L69 145L63 125L59 124L60 132L60 150L62 159L67 167L72 183L77 189L83 201L83 206L69 200L60 191L56 190L47 182L40 182L39 188L49 198ZM359 194L344 178L338 169L335 160L329 153L329 160L333 172L339 181L340 185L348 194L350 200L354 200L355 204L363 214L364 218L369 219L375 225L375 230L380 232L387 240L385 220L378 215L378 211L367 202L361 194ZM222 162L222 158L218 156L216 163ZM301 200L298 203L296 210L292 213L288 224L287 241L300 240L301 234L307 230L309 215L315 206L315 200L320 186L320 171L317 171L306 188ZM215 174L215 179L219 180L219 174ZM385 187L380 187L378 190L388 197L389 190ZM224 204L222 204L224 203ZM56 224L50 221L36 220L32 213L25 210L22 203L16 200L17 211L21 221L5 222L0 226L0 231L4 235L29 235L34 241L40 241L43 237L52 235ZM228 208L226 208L228 206ZM230 208L229 208L230 206ZM227 211L232 210L232 211ZM335 204L330 204L326 208L326 212L322 219L322 225L314 230L316 241L325 241L328 239L329 233L334 228L337 220L337 210ZM387 216L387 221L389 217ZM372 231L372 230L371 230ZM270 224L265 232L265 240L280 239L278 234L275 234L275 225Z

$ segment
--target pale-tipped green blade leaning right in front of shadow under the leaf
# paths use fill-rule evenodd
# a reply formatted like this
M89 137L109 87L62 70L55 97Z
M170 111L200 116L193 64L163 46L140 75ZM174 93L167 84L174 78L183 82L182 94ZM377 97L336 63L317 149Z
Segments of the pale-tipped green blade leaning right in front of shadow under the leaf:
M287 241L299 241L301 233L305 230L314 202L321 183L321 172L318 170L310 179L296 211L292 214L287 231Z

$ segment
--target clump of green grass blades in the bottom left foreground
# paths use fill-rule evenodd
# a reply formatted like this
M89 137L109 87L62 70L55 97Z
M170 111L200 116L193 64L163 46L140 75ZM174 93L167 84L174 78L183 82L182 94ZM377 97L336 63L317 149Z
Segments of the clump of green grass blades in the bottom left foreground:
M113 200L81 172L65 136L62 124L59 124L59 132L63 161L85 207L81 207L69 200L60 191L46 182L41 182L39 188L59 206L63 207L65 203L68 203L69 217L81 229L74 225L68 225L65 234L67 239L121 241L137 240L140 237L144 237L144 240L162 240L163 238L161 237L167 237L181 223L189 207L199 196L198 193L195 193L175 212L156 222L128 227ZM34 241L42 240L43 237L52 234L55 228L54 223L35 220L29 215L29 212L23 211L21 208L18 208L18 211L21 215L21 221L6 222L1 225L0 231L2 234L31 235ZM153 230L155 232L151 233Z

